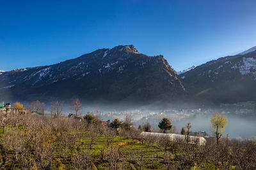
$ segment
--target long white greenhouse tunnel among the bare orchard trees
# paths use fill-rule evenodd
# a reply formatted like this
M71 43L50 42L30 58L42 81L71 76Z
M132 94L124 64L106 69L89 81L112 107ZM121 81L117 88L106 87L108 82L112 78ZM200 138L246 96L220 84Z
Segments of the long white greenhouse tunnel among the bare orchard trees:
M163 133L155 133L155 132L141 132L140 134L145 138L168 138L170 141L186 141L186 136L182 134L163 134ZM199 136L189 136L189 143L198 144L205 146L206 140L204 137Z

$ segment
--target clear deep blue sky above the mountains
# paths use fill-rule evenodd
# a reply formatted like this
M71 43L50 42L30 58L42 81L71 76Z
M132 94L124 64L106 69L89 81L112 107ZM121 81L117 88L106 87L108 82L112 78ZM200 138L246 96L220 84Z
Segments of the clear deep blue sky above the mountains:
M0 69L134 45L177 71L256 46L256 1L0 0Z

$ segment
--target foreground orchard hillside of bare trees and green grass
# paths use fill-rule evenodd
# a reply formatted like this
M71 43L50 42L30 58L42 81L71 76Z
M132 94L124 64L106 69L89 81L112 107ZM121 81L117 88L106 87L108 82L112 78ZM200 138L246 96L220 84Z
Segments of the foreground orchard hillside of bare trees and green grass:
M1 115L3 116L3 115ZM2 169L256 169L256 143L220 139L205 146L141 138L124 122L27 114L1 117Z

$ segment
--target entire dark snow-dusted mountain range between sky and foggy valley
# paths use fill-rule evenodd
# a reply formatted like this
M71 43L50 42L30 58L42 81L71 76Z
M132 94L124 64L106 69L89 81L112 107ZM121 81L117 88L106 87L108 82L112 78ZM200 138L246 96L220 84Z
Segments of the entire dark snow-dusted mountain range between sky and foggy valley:
M0 100L79 97L137 104L187 97L215 104L256 101L256 51L221 57L178 74L163 55L150 57L132 45L120 45L50 66L1 72Z

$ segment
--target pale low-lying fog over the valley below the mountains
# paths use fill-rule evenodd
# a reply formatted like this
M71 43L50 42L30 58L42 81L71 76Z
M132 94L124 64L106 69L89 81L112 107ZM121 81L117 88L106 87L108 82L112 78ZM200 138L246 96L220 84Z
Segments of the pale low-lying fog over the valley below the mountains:
M100 105L88 105L82 104L83 110L81 110L81 116L85 115L88 111L95 113L99 111L100 118L102 120L113 120L118 118L120 121L124 121L125 115L132 115L132 124L136 127L149 122L154 131L159 131L157 127L159 121L163 117L170 118L172 125L175 126L175 132L179 133L181 128L184 127L188 122L191 123L191 131L205 131L207 134L212 135L211 131L211 115L215 113L222 113L227 117L227 126L225 127L223 136L237 139L249 139L252 136L256 136L256 102L241 103L241 106L228 105L218 108L182 108L180 106L172 109L161 110L160 107L143 107L131 109L132 107L104 106ZM247 105L246 105L247 104ZM254 105L252 105L254 104ZM248 106L248 108L246 108ZM244 108L245 107L245 108ZM130 108L130 109L127 109ZM163 107L162 107L163 108ZM47 114L50 114L51 103L45 104L45 110ZM68 113L73 113L72 105L70 103L63 104L63 115L67 116ZM256 139L256 137L255 137Z

